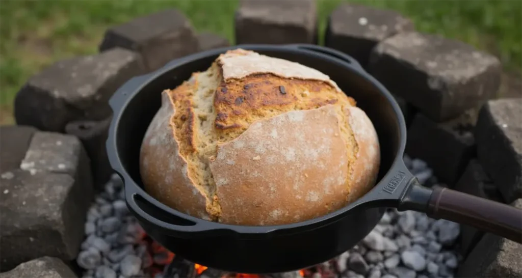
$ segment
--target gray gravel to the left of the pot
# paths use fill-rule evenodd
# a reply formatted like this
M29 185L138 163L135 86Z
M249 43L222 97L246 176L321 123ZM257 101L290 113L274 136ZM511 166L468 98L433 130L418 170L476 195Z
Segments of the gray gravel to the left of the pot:
M86 239L76 259L86 270L82 278L147 277L143 258L138 256L139 249L143 249L138 241L141 227L129 213L123 197L123 183L114 175L89 208Z

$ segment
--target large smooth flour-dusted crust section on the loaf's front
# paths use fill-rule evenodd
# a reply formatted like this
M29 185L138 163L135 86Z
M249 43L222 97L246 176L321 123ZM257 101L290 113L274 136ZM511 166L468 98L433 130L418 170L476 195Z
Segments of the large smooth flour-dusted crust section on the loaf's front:
M347 151L331 105L255 122L219 145L210 169L224 223L303 221L341 208L348 195Z

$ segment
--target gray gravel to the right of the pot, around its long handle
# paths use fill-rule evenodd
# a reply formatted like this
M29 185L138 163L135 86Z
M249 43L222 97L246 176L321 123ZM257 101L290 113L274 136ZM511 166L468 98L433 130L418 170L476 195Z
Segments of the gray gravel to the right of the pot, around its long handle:
M423 161L406 156L405 163L421 183L436 183ZM339 257L341 278L453 277L461 259L455 245L459 234L457 223L390 209L359 246Z

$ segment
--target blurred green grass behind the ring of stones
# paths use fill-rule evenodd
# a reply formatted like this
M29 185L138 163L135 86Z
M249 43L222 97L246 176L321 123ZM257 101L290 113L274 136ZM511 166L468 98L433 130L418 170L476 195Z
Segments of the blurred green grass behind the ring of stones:
M262 0L260 0L262 1ZM0 123L9 121L14 95L45 65L96 53L104 30L133 17L178 8L197 30L233 41L238 0L0 0ZM317 0L321 27L342 0ZM460 39L499 56L506 67L522 65L520 0L354 0L400 11L417 29ZM519 20L518 20L519 21ZM4 111L4 117L2 117ZM2 119L4 118L4 119Z

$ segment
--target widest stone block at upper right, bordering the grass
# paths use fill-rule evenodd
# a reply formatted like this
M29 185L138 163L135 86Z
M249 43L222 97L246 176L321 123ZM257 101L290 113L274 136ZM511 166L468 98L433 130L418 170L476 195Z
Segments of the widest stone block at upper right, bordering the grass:
M438 35L402 32L377 44L369 71L392 93L444 122L479 107L499 90L493 55Z

